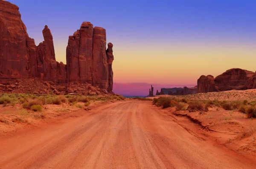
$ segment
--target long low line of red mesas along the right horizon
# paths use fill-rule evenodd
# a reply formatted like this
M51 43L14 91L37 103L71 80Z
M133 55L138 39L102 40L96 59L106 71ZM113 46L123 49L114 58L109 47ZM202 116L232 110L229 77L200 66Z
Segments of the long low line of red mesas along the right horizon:
M256 72L232 68L215 78L212 75L200 76L195 87L161 88L156 95L188 95L195 93L219 92L227 90L247 90L256 88ZM158 90L157 90L158 91Z

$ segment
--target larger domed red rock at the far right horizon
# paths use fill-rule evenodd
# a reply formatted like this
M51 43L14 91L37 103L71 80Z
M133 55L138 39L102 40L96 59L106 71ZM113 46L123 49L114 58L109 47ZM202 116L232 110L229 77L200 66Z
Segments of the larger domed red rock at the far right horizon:
M215 87L218 91L246 90L253 75L254 72L233 68L215 77Z

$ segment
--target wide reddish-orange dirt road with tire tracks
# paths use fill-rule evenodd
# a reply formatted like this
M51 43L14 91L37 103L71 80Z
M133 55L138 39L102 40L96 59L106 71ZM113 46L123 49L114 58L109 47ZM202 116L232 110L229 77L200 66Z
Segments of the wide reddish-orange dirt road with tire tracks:
M107 104L84 113L0 138L0 168L256 168L255 161L213 146L149 101Z

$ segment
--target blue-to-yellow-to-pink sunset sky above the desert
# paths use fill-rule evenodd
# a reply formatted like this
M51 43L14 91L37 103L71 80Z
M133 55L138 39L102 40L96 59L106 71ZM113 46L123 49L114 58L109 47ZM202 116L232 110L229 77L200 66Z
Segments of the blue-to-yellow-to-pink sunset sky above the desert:
M9 0L36 45L52 32L66 63L68 36L83 21L113 43L113 92L146 96L151 85L192 87L201 75L256 71L256 0Z

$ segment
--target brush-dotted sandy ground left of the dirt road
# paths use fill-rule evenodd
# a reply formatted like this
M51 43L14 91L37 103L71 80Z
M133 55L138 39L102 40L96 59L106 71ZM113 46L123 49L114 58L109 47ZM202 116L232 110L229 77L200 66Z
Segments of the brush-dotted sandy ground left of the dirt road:
M0 125L29 124L81 110L105 101L122 101L124 96L79 96L0 93Z

